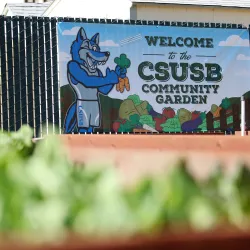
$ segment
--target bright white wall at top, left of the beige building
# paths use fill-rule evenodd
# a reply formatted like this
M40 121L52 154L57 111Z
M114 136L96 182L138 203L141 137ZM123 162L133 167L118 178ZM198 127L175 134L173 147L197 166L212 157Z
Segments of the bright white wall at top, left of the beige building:
M130 0L55 0L45 16L129 19L130 6Z

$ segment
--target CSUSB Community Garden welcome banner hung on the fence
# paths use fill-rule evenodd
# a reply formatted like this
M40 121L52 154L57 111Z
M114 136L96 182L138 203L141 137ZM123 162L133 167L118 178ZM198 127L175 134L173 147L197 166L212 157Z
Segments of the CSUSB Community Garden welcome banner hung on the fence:
M240 130L247 29L61 22L58 43L63 133Z

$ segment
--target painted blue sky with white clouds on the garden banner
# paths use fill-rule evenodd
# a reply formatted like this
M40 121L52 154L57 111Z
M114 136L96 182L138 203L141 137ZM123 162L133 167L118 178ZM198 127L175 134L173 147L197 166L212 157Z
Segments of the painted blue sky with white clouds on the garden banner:
M131 90L120 93L114 88L109 94L110 97L125 99L131 94L138 94L142 100L147 100L157 111L161 111L166 104L157 104L155 94L145 94L141 86L145 83L137 73L138 65L143 61L156 63L159 61L182 62L179 56L169 60L169 52L182 53L187 51L192 58L189 63L206 62L218 63L223 69L223 80L219 83L219 94L208 95L207 105L183 105L189 110L208 111L212 104L219 105L225 97L241 96L250 90L250 48L249 34L247 30L241 29L212 29L212 28L187 28L187 27L167 27L167 26L136 26L118 24L81 24L81 23L59 23L58 43L60 61L60 84L68 84L67 62L71 60L70 46L74 41L80 27L83 27L86 34L91 38L95 33L100 33L101 50L111 53L108 62L100 67L105 74L108 67L115 68L114 58L121 53L127 54L131 60L131 67L127 76L130 80ZM185 48L185 47L149 47L145 36L171 36L173 38L197 37L213 38L214 48ZM129 37L134 37L133 42L124 43ZM164 54L165 56L145 56L143 54ZM216 57L196 57L196 55L207 55ZM157 80L151 82L157 84ZM166 84L180 84L171 79ZM189 78L181 84L194 84ZM202 82L200 84L206 84ZM212 83L210 83L212 84ZM182 105L171 105L173 108L182 108Z

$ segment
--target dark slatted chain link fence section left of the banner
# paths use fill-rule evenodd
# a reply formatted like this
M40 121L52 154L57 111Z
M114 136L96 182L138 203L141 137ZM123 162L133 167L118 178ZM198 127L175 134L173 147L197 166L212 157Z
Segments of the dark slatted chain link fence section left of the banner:
M0 128L34 137L60 127L57 20L0 17Z

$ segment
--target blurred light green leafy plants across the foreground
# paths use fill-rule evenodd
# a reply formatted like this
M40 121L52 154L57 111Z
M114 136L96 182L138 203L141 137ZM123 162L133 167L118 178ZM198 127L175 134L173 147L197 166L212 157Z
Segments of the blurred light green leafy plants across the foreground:
M32 143L32 130L0 133L0 231L29 240L57 240L68 231L129 236L176 225L241 229L250 222L250 172L217 168L205 181L177 161L168 174L125 190L112 166L76 167L56 136Z

